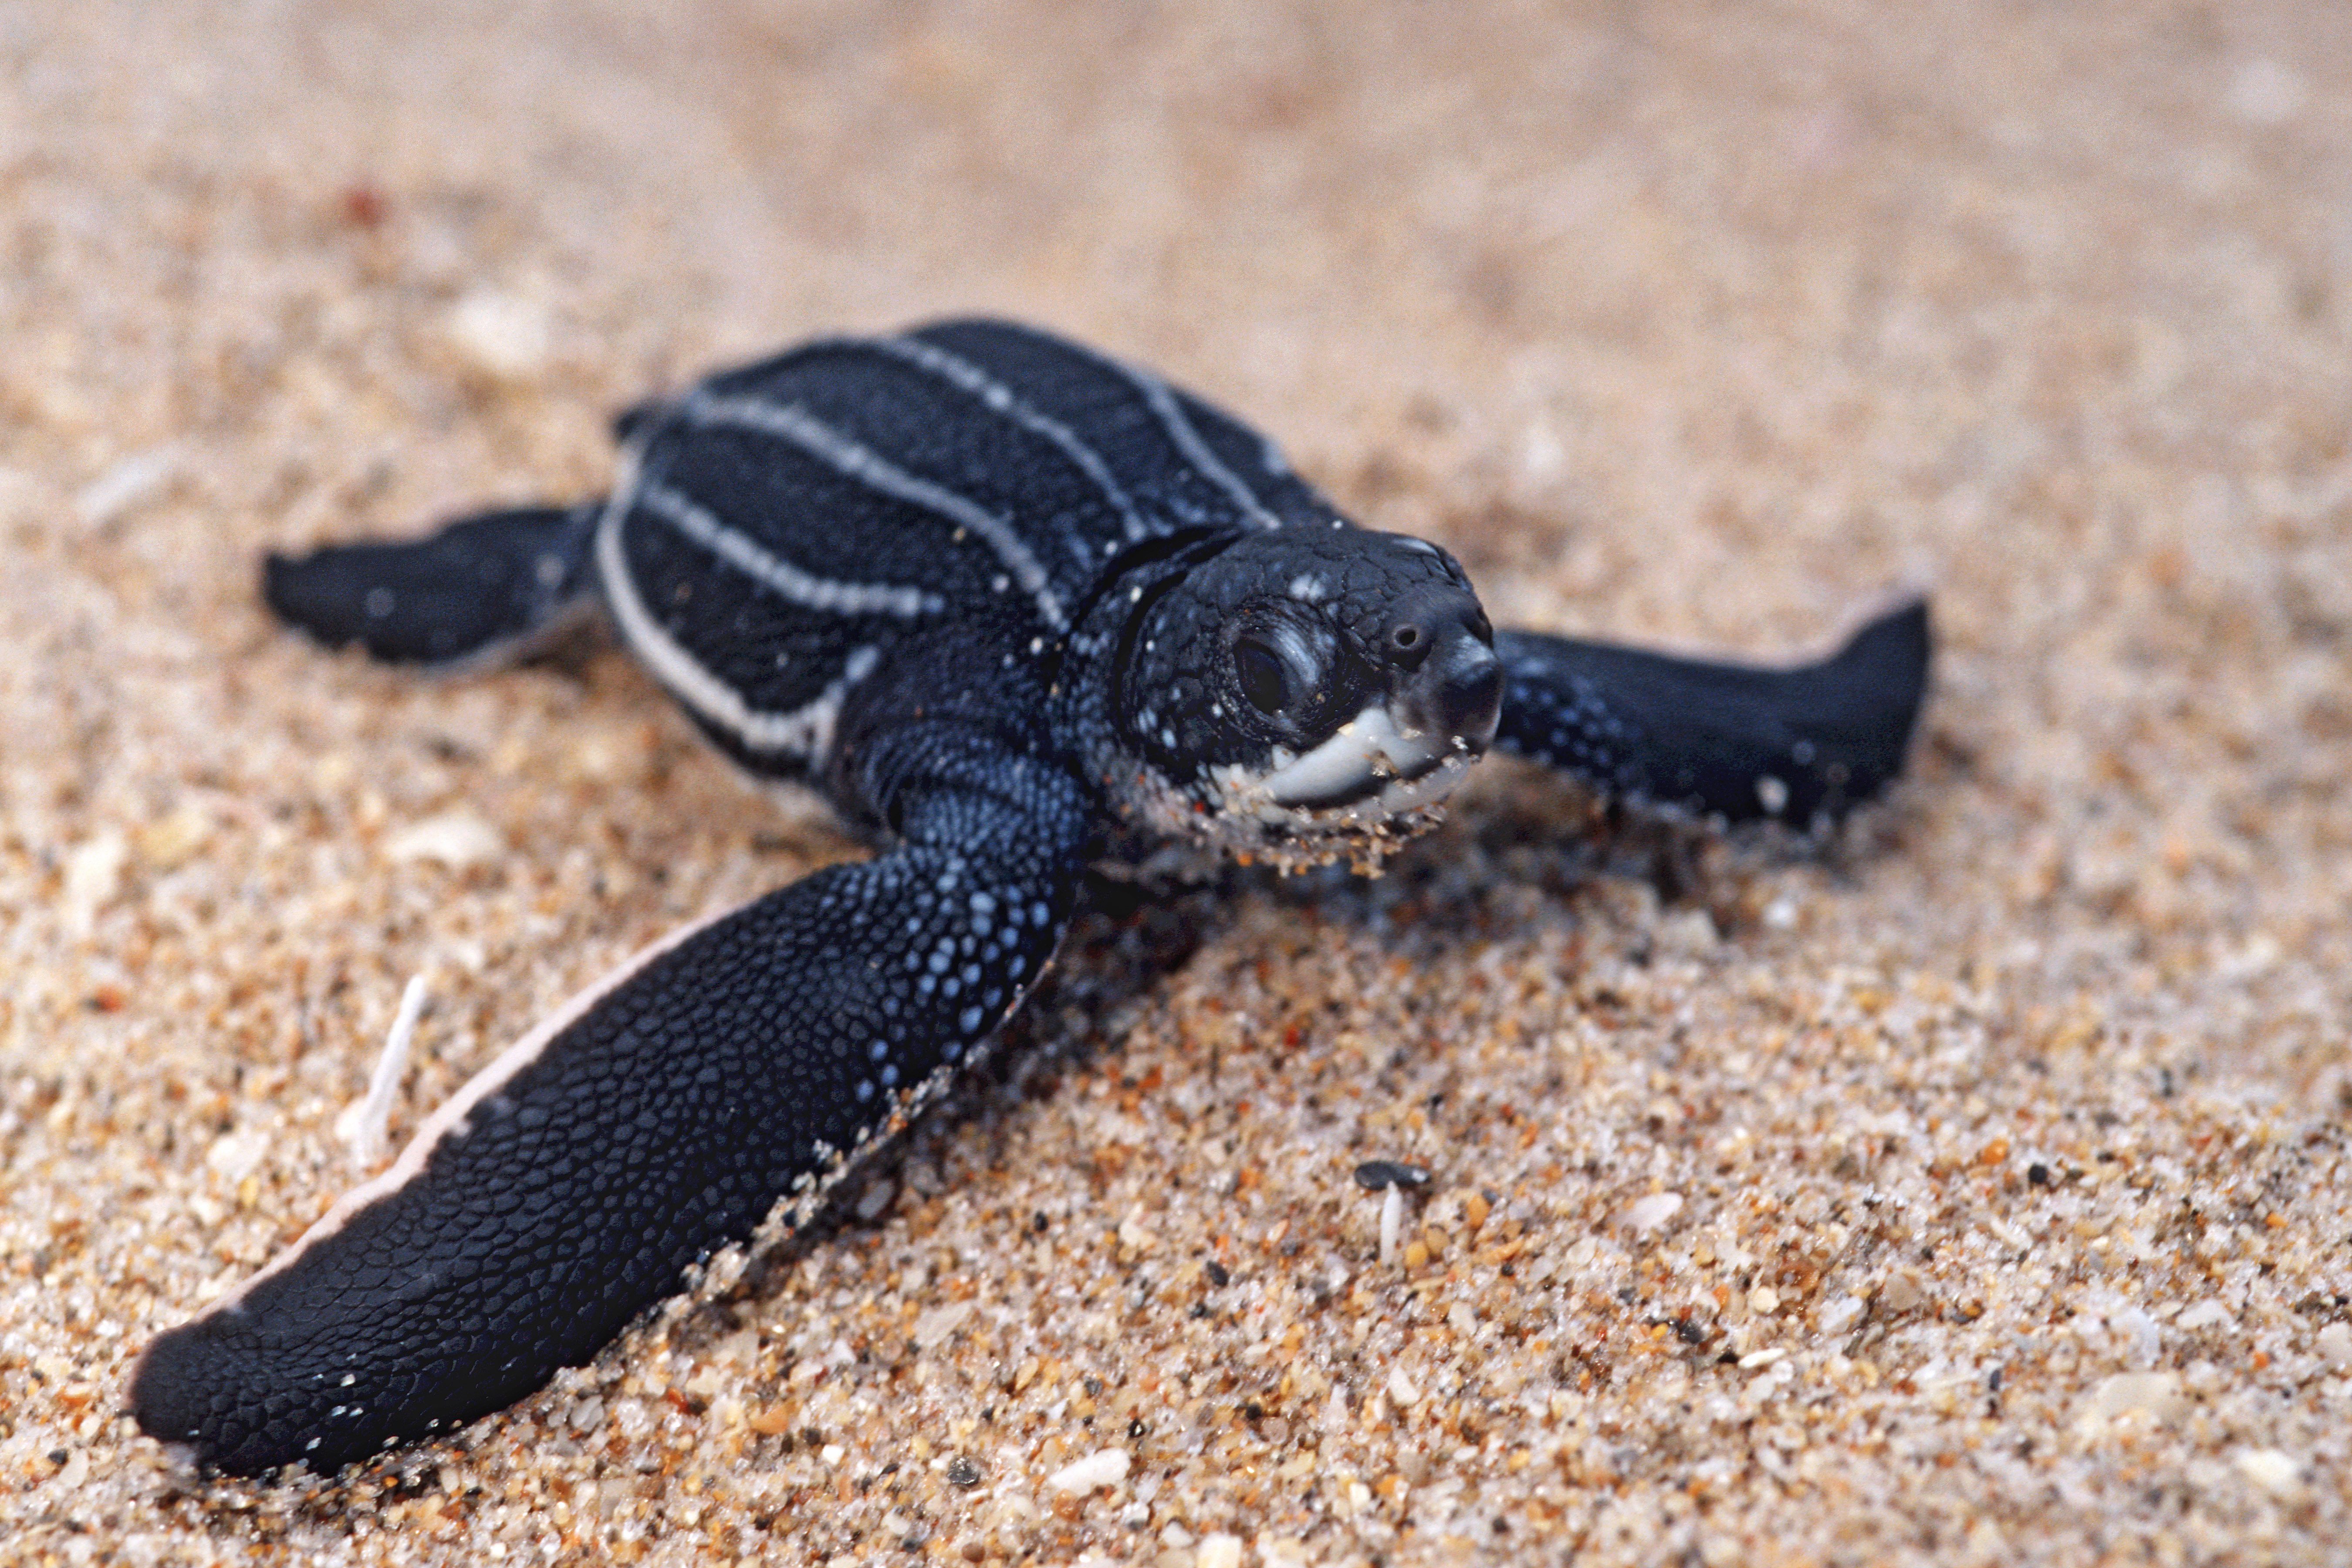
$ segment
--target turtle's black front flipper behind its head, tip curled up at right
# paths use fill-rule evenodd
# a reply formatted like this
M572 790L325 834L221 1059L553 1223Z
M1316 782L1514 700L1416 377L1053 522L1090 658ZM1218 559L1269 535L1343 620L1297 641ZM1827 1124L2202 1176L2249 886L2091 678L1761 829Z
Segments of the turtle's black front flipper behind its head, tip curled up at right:
M1792 670L1501 632L1496 743L1637 806L1816 827L1903 771L1929 644L1926 599Z

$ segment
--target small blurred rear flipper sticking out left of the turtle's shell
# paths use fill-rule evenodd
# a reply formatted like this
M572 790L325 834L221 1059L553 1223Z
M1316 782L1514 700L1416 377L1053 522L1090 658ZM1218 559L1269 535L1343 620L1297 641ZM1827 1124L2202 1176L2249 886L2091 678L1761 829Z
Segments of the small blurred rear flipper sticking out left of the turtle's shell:
M428 538L270 552L261 597L329 649L358 642L386 663L520 658L595 607L597 510L485 512Z

